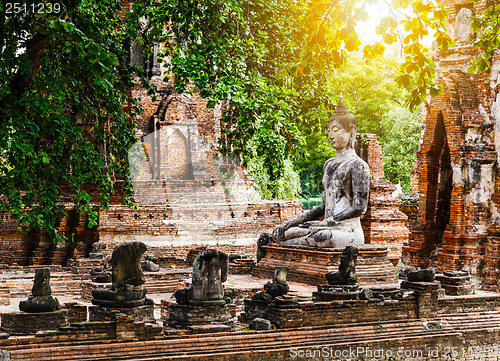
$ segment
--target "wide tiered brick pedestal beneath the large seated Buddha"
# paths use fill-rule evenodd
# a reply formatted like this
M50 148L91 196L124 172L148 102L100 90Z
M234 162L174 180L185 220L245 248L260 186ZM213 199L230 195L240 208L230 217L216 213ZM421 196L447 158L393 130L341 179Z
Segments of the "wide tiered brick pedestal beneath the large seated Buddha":
M287 280L313 285L325 283L325 274L337 271L343 249L314 249L304 246L272 244L262 246L265 252L252 275L272 278L278 266L289 268ZM359 247L356 276L360 285L396 283L396 269L387 259L387 246L363 245Z

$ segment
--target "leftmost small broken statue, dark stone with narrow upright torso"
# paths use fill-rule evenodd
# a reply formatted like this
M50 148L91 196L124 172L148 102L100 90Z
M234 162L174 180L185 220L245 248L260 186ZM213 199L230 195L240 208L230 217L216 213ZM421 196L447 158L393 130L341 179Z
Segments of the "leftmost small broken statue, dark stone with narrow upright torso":
M19 302L19 309L23 312L53 312L61 308L57 298L52 297L50 289L50 269L37 268L31 295L26 301Z

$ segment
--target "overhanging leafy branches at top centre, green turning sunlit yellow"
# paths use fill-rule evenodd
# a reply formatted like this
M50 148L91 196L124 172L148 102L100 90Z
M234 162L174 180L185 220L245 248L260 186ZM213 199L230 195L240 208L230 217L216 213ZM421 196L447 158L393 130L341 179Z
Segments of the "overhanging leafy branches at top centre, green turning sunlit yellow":
M189 0L146 4L143 10L158 20L149 35L158 37L162 24L171 22L165 57L178 76L176 86L184 91L189 81L210 99L209 105L229 101L224 113L220 150L252 157L249 144L256 145L269 175L270 190L277 192L284 160L297 156L307 144L304 135L317 128L316 114L333 110L325 89L333 70L349 62L349 53L359 50L355 31L367 18L364 6L372 1L329 0ZM416 1L399 1L394 8L413 7L413 15L383 20L378 32L387 43L396 41L398 24L405 27L407 74L398 74L399 86L411 90L409 104L415 106L434 85L434 66L421 45L428 28L436 31L439 46L451 41L444 33L446 12L442 7ZM398 23L399 20L399 23ZM365 47L367 57L376 57L384 45ZM312 130L314 132L314 130ZM298 157L301 157L298 155Z

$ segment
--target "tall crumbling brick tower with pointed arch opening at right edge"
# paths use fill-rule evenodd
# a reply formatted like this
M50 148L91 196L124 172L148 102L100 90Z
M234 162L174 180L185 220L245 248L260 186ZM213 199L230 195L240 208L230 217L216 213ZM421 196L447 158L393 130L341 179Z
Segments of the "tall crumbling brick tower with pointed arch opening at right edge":
M435 52L440 97L427 100L417 154L417 226L404 248L406 262L438 271L464 269L483 287L499 288L500 53L490 70L467 72L479 50L468 20L487 1L443 1L455 46Z

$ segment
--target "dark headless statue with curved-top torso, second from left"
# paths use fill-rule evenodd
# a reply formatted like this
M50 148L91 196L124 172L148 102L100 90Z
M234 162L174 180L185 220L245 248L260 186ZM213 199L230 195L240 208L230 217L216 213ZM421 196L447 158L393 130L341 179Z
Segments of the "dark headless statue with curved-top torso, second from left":
M129 308L151 304L146 298L141 256L146 252L142 242L127 242L115 248L111 256L111 288L92 291L92 303L104 307Z

